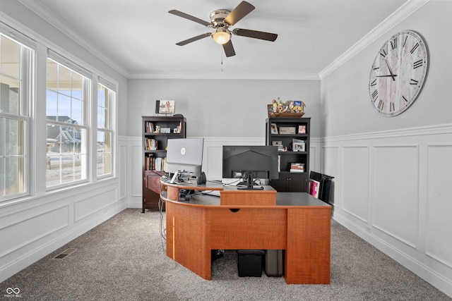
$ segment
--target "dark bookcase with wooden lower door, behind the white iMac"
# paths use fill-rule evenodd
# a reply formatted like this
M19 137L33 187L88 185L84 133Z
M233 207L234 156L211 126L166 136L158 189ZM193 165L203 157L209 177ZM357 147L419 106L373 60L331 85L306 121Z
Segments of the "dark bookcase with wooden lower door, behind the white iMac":
M143 206L159 209L160 176L165 174L168 139L186 137L186 118L183 116L142 116ZM165 209L165 208L162 208Z

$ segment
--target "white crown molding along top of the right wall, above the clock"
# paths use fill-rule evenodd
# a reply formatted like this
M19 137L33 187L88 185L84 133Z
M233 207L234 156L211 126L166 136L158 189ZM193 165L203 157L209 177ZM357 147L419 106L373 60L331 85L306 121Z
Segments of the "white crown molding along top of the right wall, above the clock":
M359 54L362 50L368 47L370 44L379 39L382 35L386 34L391 28L398 25L398 23L408 18L412 13L415 13L419 8L427 4L430 0L408 0L400 6L397 11L394 11L391 16L388 16L379 25L371 30L367 35L362 37L357 43L345 51L338 59L335 59L333 63L328 65L325 69L319 73L319 78L322 80L326 75L332 73L334 70L342 66L344 63L352 59Z

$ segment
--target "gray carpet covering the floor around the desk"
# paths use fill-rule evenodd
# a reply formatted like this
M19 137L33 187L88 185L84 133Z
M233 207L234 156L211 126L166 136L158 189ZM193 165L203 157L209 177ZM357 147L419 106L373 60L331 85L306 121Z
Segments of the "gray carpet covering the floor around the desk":
M451 300L335 221L331 285L239 277L234 251L213 262L206 281L165 255L161 217L126 209L8 278L0 297L20 288L22 300ZM54 259L67 248L76 251Z

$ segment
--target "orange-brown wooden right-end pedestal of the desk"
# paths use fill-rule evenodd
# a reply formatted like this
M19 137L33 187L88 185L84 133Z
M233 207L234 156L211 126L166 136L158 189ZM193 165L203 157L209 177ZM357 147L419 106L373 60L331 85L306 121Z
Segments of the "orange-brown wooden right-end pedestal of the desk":
M287 284L329 284L331 209L287 209Z

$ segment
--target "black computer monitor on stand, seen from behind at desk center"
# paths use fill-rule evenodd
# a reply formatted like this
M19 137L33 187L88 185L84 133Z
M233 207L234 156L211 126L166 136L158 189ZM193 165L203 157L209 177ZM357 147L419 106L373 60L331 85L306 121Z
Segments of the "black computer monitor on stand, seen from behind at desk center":
M243 178L244 189L254 189L254 179L277 179L278 147L272 145L223 146L223 178Z

